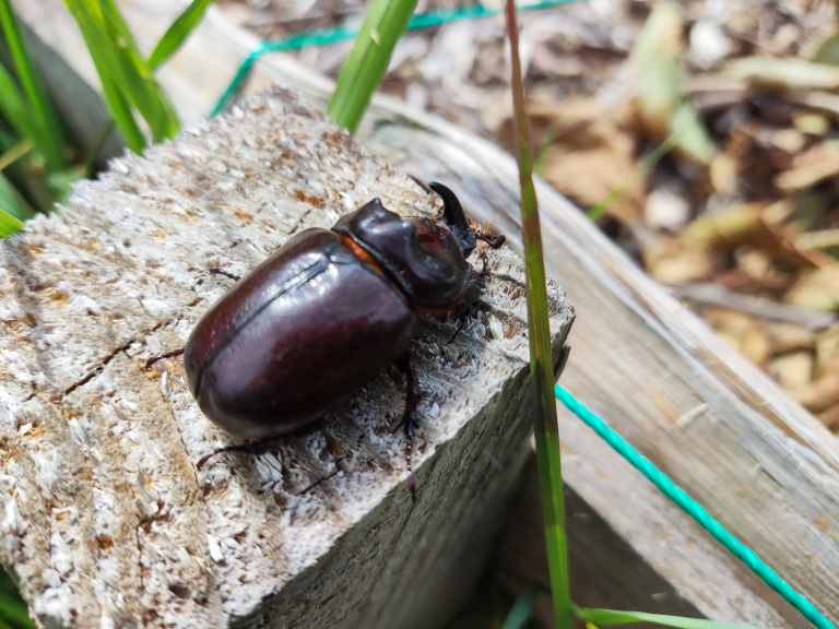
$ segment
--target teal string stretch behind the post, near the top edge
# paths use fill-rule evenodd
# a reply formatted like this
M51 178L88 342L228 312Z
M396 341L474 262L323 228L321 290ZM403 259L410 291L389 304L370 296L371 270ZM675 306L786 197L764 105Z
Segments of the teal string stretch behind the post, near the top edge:
M519 10L531 11L535 9L546 9L548 7L558 7L560 4L570 4L572 2L579 1L580 0L545 0L543 2L534 2L532 4L522 4L519 7ZM504 11L504 9L487 9L481 4L459 7L458 9L441 11L428 11L427 13L420 13L411 17L407 23L407 29L414 31L416 28L429 28L432 26L440 26L441 24L457 22L458 20L475 20L477 17L487 17L489 15L500 13L501 11ZM338 28L323 28L312 33L297 33L276 41L263 41L259 48L248 55L247 59L241 62L241 66L239 66L239 69L236 71L236 75L233 78L233 81L231 81L231 84L227 86L227 90L225 90L224 94L222 94L222 97L215 105L211 116L216 116L227 106L228 100L241 87L241 84L253 67L253 63L265 52L296 50L305 46L324 46L335 41L353 39L357 34L357 28L344 28L342 26Z

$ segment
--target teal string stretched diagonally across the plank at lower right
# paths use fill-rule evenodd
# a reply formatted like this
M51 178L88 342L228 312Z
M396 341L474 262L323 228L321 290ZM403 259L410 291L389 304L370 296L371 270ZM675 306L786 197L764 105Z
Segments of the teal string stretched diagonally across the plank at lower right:
M740 542L734 535L729 533L701 505L692 499L673 480L667 478L653 463L635 450L629 443L606 424L578 402L574 395L557 384L554 389L557 400L577 417L582 419L601 439L608 443L613 450L626 459L631 465L643 474L664 496L673 500L685 513L696 520L699 525L708 531L711 536L722 544L737 559L743 561L755 574L760 577L764 582L772 590L783 596L787 602L795 607L801 614L818 629L836 629L832 622L825 618L816 607L804 596L793 590L775 570L769 568L760 560L754 550Z

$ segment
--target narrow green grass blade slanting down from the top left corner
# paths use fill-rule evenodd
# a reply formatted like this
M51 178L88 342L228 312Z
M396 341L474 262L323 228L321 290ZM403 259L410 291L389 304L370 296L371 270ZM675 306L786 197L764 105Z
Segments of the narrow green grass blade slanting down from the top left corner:
M2 25L17 78L26 94L28 114L33 118L32 128L37 130L35 134L31 134L28 138L35 142L50 168L64 168L68 165L68 159L61 122L55 107L52 107L52 100L44 88L35 63L26 50L21 27L14 11L12 11L10 0L0 0L0 25Z

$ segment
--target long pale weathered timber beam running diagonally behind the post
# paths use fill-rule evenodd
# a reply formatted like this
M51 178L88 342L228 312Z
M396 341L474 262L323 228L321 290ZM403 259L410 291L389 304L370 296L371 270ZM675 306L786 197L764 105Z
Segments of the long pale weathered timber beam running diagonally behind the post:
M60 2L21 4L33 27L64 48L84 74L85 61L76 61L82 55L73 47ZM150 0L121 5L147 47L178 11L175 3ZM258 46L256 37L210 11L161 73L187 121L212 108ZM331 87L279 54L257 63L248 88L272 82L315 100ZM516 233L517 175L497 147L388 98L374 102L359 135L417 177L459 180L471 211L508 235ZM836 439L647 278L575 207L547 186L540 183L537 191L548 272L579 313L564 384L839 621ZM720 620L807 626L590 430L567 413L560 417L567 483L678 594ZM634 584L631 579L625 583Z

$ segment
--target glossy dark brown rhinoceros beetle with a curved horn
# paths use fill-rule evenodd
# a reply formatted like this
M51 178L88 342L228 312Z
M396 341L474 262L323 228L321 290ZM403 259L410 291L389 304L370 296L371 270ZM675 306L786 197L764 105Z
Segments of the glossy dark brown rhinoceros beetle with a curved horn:
M417 390L411 339L417 317L454 311L473 285L466 258L491 236L441 183L441 216L403 218L377 198L331 229L293 236L239 280L198 322L181 349L192 395L215 424L270 439L322 417L383 367L405 373L403 423L410 489ZM486 258L484 257L484 271ZM213 452L251 450L234 446ZM212 455L212 454L211 454ZM210 455L199 462L202 465Z

